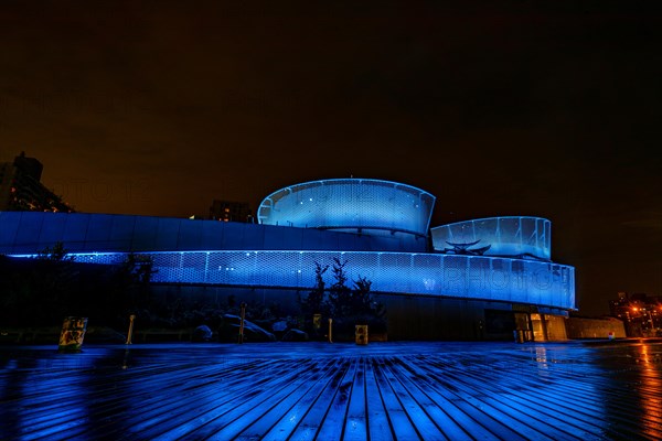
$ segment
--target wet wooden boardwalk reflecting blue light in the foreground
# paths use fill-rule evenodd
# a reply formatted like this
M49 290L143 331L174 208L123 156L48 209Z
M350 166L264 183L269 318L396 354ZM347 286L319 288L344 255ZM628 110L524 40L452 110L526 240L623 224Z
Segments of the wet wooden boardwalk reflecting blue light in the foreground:
M662 439L662 344L0 347L2 440Z

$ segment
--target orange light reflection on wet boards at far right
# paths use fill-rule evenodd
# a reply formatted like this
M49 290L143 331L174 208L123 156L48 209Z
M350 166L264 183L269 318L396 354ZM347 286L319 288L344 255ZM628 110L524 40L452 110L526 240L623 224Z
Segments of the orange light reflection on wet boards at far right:
M643 411L643 434L649 437L659 435L662 431L662 375L660 370L660 346L655 347L642 343L637 347L638 362L640 366L640 400Z

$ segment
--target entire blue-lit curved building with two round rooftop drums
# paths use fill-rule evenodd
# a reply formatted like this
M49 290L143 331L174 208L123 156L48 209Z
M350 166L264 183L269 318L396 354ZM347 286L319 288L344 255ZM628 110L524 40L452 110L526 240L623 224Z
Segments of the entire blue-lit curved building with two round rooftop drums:
M388 338L565 340L574 268L551 260L551 222L508 216L430 228L435 196L410 185L322 180L264 198L257 223L85 213L0 213L0 252L63 243L77 261L150 256L183 295L295 304L314 263L348 261L386 305Z

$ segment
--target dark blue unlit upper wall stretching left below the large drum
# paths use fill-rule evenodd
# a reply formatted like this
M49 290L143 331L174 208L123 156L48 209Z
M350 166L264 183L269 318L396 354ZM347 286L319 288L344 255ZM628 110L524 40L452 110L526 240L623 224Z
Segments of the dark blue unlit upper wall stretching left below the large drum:
M89 213L0 212L0 252L310 249L425 251L423 237L369 236L307 228Z

